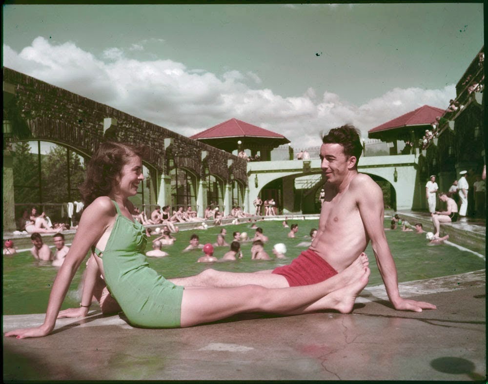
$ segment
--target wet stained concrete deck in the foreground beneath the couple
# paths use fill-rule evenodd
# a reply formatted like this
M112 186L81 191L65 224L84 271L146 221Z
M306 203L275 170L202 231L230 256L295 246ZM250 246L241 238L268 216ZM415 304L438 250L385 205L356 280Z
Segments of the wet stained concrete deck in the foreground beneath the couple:
M366 287L351 314L255 314L185 329L141 329L93 310L40 339L3 338L3 381L486 379L485 270L400 284L437 305L395 311ZM3 316L3 331L43 314Z

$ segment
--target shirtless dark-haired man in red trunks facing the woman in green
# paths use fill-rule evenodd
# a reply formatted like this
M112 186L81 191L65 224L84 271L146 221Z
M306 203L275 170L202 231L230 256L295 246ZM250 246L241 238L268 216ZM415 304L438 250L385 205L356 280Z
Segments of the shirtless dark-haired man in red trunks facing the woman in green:
M268 288L327 280L333 291L349 284L355 273L367 265L362 252L371 241L391 304L398 310L434 309L432 304L400 296L397 270L383 227L383 193L371 177L358 173L362 151L360 136L353 126L334 128L324 136L320 158L326 182L319 228L309 249L290 265L254 273L206 269L196 276L170 280L183 286L256 284Z

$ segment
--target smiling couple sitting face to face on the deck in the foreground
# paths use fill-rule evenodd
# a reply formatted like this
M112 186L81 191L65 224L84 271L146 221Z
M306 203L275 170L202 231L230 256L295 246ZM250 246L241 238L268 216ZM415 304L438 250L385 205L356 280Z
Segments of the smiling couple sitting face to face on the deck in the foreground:
M352 126L332 129L324 136L320 157L325 200L319 228L310 247L291 264L254 273L205 269L195 276L165 279L149 268L142 254L145 229L133 220L128 199L137 194L144 178L144 150L130 144L102 143L80 188L85 208L54 281L43 324L5 336L46 336L58 317L87 315L92 289L83 291L80 308L61 312L60 308L88 252L85 285L95 287L90 281L100 280L102 275L104 289L110 292L104 297L112 297L133 326L187 327L242 312L298 315L328 309L349 313L368 282L369 261L364 250L369 242L393 307L416 312L434 309L430 303L400 295L383 228L381 189L357 171L362 149ZM103 310L107 300L102 296L101 300Z

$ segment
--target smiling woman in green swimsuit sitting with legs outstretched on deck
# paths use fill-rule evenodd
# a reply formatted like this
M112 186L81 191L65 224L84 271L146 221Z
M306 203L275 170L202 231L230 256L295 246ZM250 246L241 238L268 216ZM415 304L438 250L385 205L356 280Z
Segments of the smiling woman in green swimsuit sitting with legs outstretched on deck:
M44 323L7 332L5 336L20 339L52 332L71 280L89 251L111 294L134 326L194 326L242 312L294 315L321 309L352 310L356 296L367 284L370 273L367 267L350 285L332 292L326 282L293 288L248 285L185 289L164 279L149 268L142 253L145 230L133 221L130 213L132 204L128 197L137 193L144 179L142 156L142 149L132 145L110 142L100 145L81 186L86 208L54 281ZM86 307L84 304L81 306Z

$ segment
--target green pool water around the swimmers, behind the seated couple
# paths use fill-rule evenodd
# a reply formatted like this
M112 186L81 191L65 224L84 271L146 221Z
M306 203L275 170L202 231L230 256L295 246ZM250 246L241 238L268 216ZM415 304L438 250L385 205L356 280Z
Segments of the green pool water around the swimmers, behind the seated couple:
M274 269L289 264L301 250L306 249L305 246L297 247L297 245L304 241L310 241L309 237L304 236L308 235L310 229L318 227L318 220L288 221L288 225L294 223L299 226L298 237L290 239L286 236L289 228L284 228L281 221L258 222L258 226L262 227L264 234L269 237L268 243L264 246L265 251L273 257L273 245L284 243L287 248L286 259L273 258L269 261L253 261L250 259L251 242L241 244L244 258L235 262L197 263L197 259L203 255L201 250L182 252L188 245L192 233L197 233L200 236L201 244L215 243L217 234L222 228L215 227L208 230L180 231L175 236L177 241L172 246L163 248L169 253L169 256L163 258L148 257L148 262L152 268L167 278L194 275L206 268L231 272ZM227 230L226 242L230 244L233 231L247 232L252 237L255 230L249 227L249 224L225 226L224 228ZM386 238L397 265L399 282L447 276L485 268L484 259L469 251L459 250L446 244L428 246L425 234L387 230ZM152 239L155 239L155 236ZM146 251L151 250L150 243L149 241ZM48 243L48 245L52 244ZM214 255L221 258L226 251L228 251L228 247L215 247ZM369 256L371 269L368 285L382 284L371 245L368 245L366 252ZM84 269L85 263L82 263L61 309L78 307L80 303L79 284ZM50 265L39 265L29 251L18 253L13 257L3 257L3 314L44 313L57 271L57 268Z

